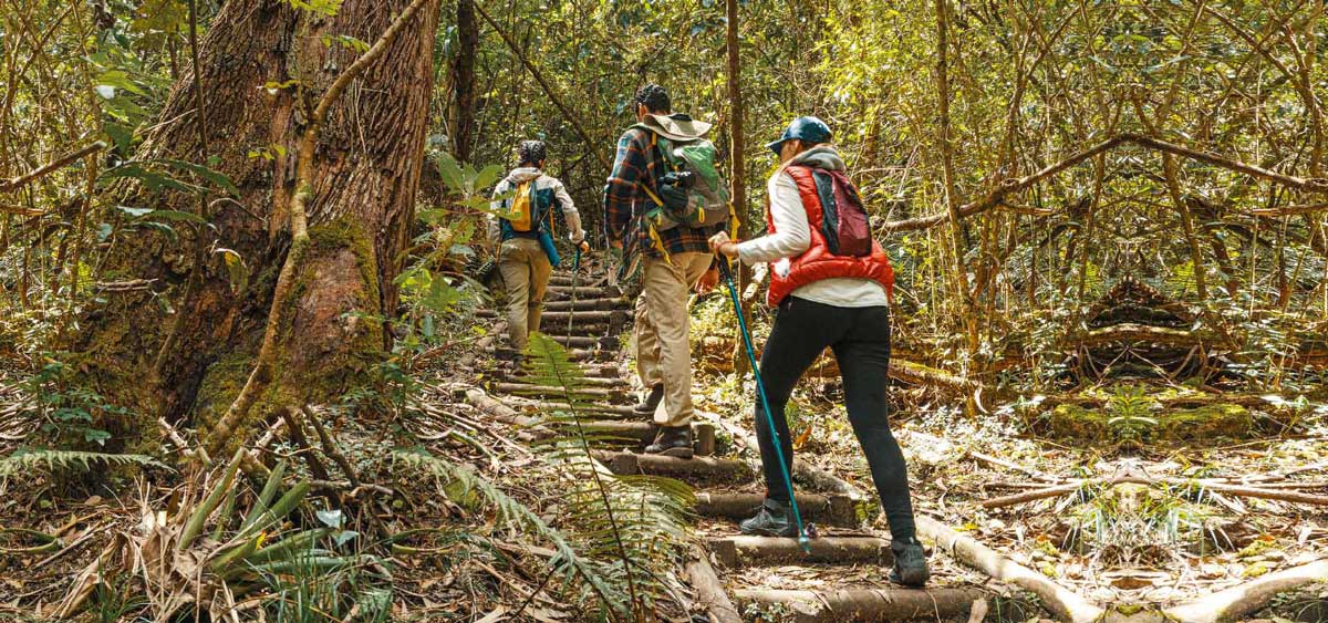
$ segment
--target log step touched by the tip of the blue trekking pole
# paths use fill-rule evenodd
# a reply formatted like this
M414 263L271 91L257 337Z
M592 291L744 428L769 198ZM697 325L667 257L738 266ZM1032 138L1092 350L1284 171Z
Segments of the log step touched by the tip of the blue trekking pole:
M795 538L717 537L706 539L714 557L729 569L785 563L883 565L894 563L890 542L876 537L822 537L802 551Z

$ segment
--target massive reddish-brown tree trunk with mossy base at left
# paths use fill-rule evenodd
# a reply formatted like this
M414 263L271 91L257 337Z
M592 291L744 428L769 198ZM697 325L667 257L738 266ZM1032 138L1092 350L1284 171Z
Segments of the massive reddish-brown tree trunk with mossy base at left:
M214 202L211 227L203 231L215 236L205 240L208 247L243 258L244 284L235 287L220 254L208 254L198 266L187 252L193 235L185 231L179 242L146 231L121 234L106 262L108 276L155 279L158 290L109 295L86 317L84 341L76 347L84 353L82 369L104 395L146 421L198 416L198 424L207 424L231 404L252 368L290 247L288 205L309 106L359 57L359 50L323 39L348 35L372 44L409 4L345 0L335 17L316 17L278 0L231 0L216 13L201 50L208 141L219 158L211 167L224 173L239 195ZM393 278L414 221L436 27L437 0L430 0L328 112L309 177L311 244L284 303L290 323L282 331L274 383L255 414L339 395L389 344L374 319L392 316L397 307ZM272 88L282 84L293 86ZM193 72L175 84L163 122L138 159L194 159L199 137L191 118L193 85ZM271 159L250 155L264 149ZM117 195L121 205L195 211L191 197L178 193L126 186ZM117 218L108 215L109 222ZM186 306L169 313L154 304L178 302L181 287L173 286L185 284L194 271L202 278ZM158 368L154 359L166 343L171 347Z

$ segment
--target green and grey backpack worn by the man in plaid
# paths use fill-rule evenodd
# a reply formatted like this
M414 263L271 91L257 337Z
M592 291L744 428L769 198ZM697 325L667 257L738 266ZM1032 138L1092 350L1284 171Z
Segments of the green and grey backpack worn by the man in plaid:
M652 128L637 125L651 133L651 146L659 149L669 169L656 179L659 194L643 186L655 202L645 218L656 231L677 226L710 227L733 215L728 182L720 177L718 151L704 138L672 141L659 135Z

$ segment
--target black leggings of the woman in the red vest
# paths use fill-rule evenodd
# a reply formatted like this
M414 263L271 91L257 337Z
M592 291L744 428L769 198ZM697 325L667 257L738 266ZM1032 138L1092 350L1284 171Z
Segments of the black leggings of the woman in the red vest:
M784 408L802 373L829 347L839 363L849 421L867 454L871 480L876 484L880 505L890 521L894 539L914 537L912 502L908 499L908 473L899 444L886 420L886 373L890 368L890 310L886 307L837 307L789 296L780 304L770 339L761 355L761 379L770 399L770 414L784 449L784 458L793 462L793 441ZM789 499L789 489L780 473L770 426L756 408L756 437L761 444L766 495ZM791 469L790 469L791 473Z

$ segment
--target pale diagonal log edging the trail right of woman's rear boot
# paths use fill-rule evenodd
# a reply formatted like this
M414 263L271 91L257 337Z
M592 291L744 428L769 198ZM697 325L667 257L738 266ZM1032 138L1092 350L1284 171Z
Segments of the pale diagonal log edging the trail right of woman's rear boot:
M968 565L992 579L1009 582L1033 592L1052 614L1072 623L1092 623L1102 616L1102 608L1078 594L1052 582L1048 577L1005 558L977 541L964 537L948 526L926 515L916 517L918 534L936 542L956 561Z

